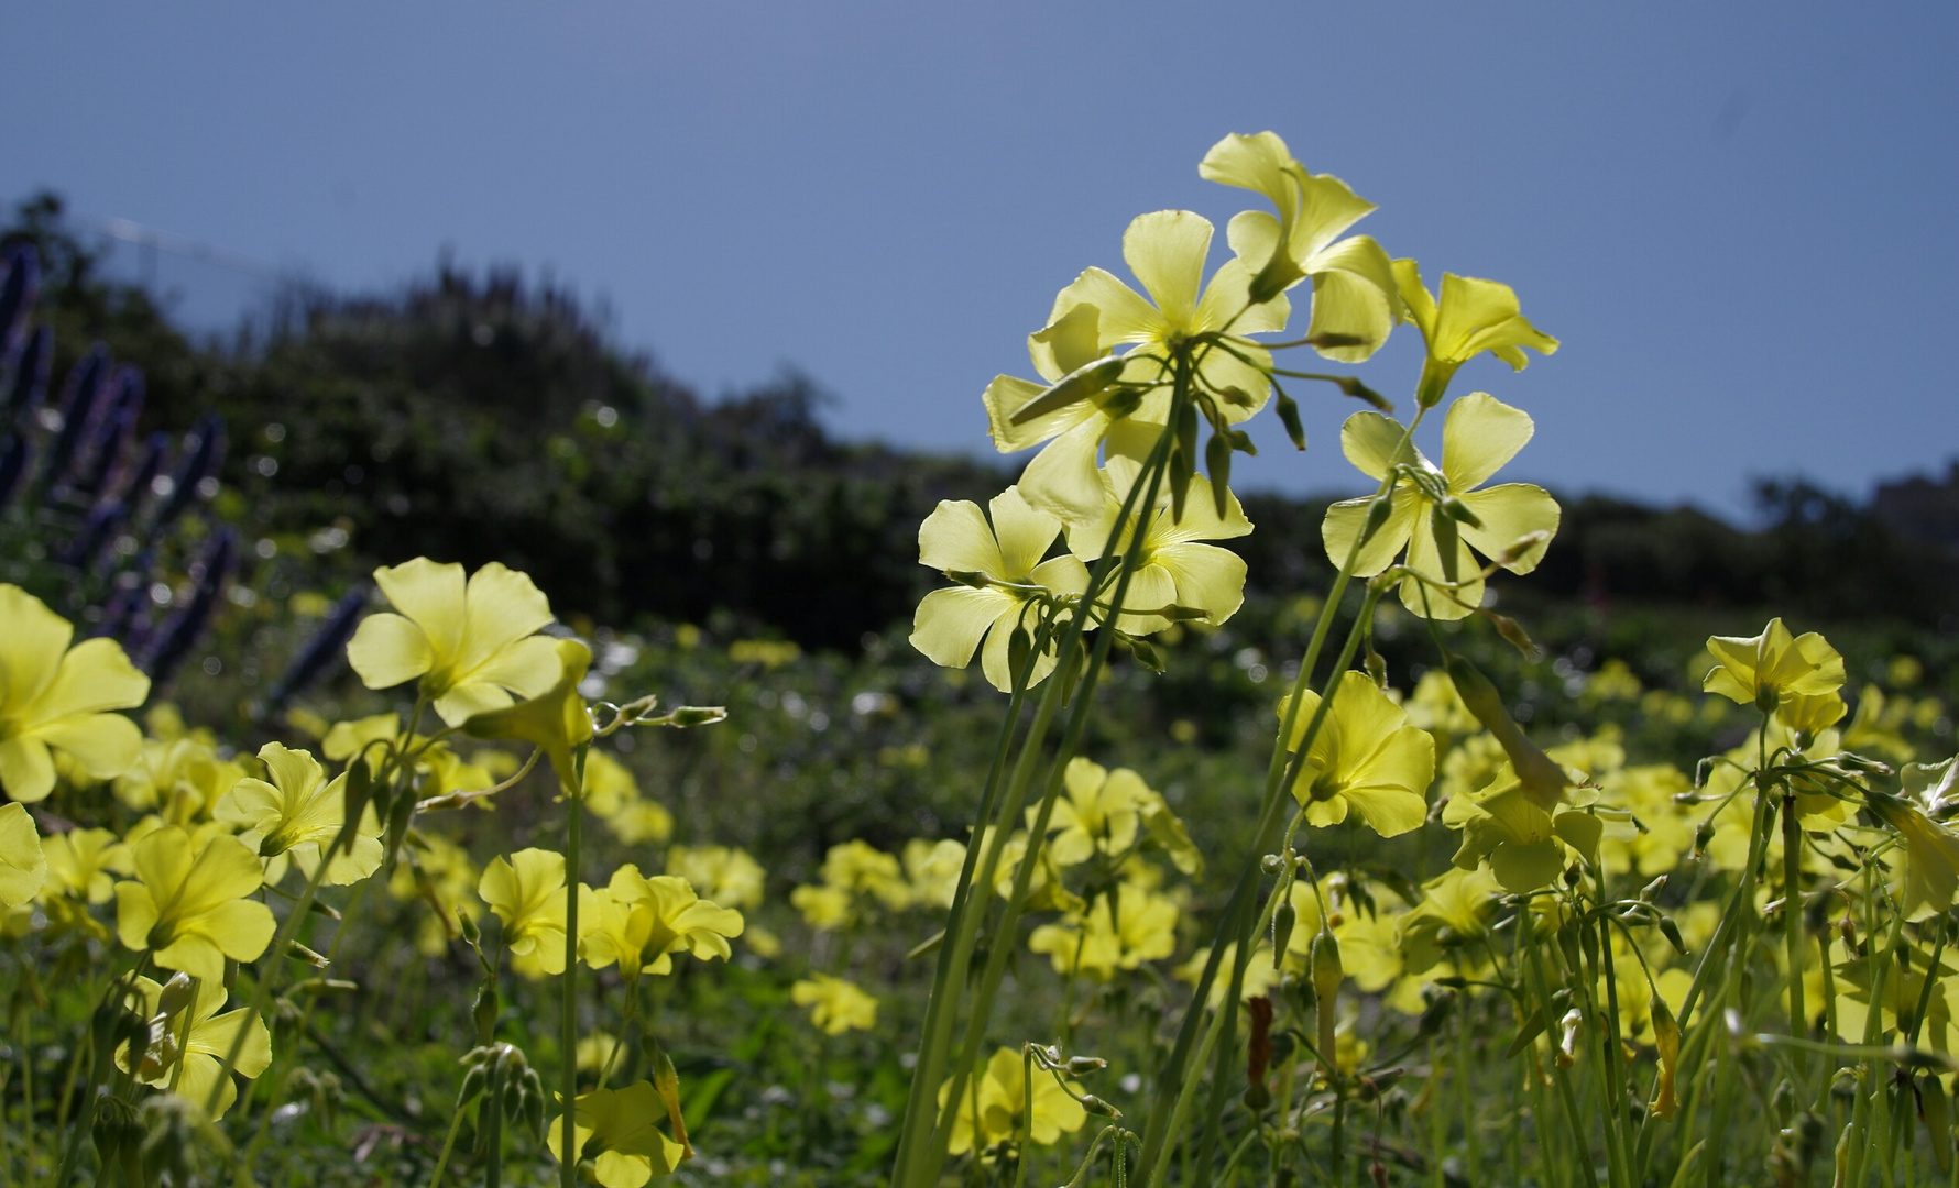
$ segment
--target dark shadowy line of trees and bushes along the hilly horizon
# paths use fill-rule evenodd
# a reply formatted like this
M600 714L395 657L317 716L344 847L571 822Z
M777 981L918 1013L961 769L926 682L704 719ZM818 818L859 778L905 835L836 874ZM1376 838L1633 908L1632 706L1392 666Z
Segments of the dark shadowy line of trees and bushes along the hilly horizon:
M572 294L511 270L441 264L380 296L294 286L233 341L192 343L145 292L102 278L59 200L24 204L4 241L43 260L57 374L100 341L147 376L145 431L223 417L243 530L339 528L349 579L415 554L503 560L568 615L733 615L852 646L909 617L931 579L917 526L936 501L983 501L1011 478L991 460L838 440L799 376L701 399ZM1937 481L1914 481L1910 507L1953 505ZM1959 470L1943 487L1959 491ZM1557 548L1522 581L1595 603L1953 626L1959 562L1916 528L1924 515L1800 481L1759 495L1771 526L1753 532L1693 509L1567 499ZM1324 501L1254 493L1246 509L1260 530L1236 546L1254 587L1324 579Z

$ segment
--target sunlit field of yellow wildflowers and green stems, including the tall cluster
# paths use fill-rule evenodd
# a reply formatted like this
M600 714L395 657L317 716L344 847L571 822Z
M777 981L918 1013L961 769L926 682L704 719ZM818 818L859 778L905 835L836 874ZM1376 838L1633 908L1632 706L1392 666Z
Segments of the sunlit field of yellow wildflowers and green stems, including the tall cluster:
M1134 284L1056 296L981 401L1019 481L919 525L944 585L856 662L400 558L292 597L276 705L214 732L153 677L233 564L182 528L221 429L123 476L10 329L0 505L121 483L78 581L127 526L196 581L143 632L0 583L4 1182L1959 1182L1924 665L1767 618L1520 695L1552 634L1487 585L1561 511L1457 378L1557 341L1273 133L1199 170L1258 200L1228 258L1144 213ZM1391 333L1405 401L1352 374ZM1362 493L1238 646L1232 460L1309 393L1367 405Z

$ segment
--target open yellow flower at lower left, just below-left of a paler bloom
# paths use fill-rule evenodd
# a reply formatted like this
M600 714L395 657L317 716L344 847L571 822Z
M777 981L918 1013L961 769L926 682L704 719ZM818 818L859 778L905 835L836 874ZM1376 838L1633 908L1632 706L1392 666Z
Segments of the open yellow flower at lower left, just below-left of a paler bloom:
M155 949L157 965L217 982L225 957L257 961L272 943L272 910L245 898L264 869L243 842L202 842L165 826L133 845L135 881L116 885L116 932L129 949Z

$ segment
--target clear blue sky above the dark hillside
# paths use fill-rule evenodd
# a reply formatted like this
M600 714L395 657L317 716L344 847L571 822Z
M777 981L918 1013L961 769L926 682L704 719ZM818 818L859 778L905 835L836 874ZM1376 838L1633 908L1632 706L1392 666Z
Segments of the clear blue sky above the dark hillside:
M1393 254L1563 339L1457 380L1538 419L1518 476L1732 511L1751 474L1959 454L1951 4L84 0L8 31L0 198L345 288L443 247L549 266L707 393L801 368L848 434L987 448L1054 290L1134 213L1248 206L1197 159L1269 127ZM1248 480L1352 485L1348 411L1309 405L1305 456L1266 423Z

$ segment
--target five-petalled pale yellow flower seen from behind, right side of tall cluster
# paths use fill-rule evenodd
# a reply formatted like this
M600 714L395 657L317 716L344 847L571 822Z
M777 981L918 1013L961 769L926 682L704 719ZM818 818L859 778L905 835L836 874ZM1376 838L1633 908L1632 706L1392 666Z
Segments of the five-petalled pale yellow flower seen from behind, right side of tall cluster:
M1412 446L1395 454L1405 434L1397 421L1381 413L1348 417L1340 448L1362 474L1381 480L1395 464L1412 464L1424 476L1420 483L1403 478L1395 485L1387 523L1362 546L1354 571L1373 577L1395 564L1395 556L1407 546L1410 570L1438 581L1461 581L1461 587L1456 601L1438 589L1424 597L1422 583L1409 577L1401 583L1401 603L1416 615L1463 618L1483 601L1481 566L1471 548L1512 573L1536 570L1557 532L1557 501L1530 483L1483 487L1524 448L1532 433L1536 425L1528 413L1487 391L1473 391L1450 405L1442 425L1442 466L1436 466ZM1346 564L1354 540L1367 526L1371 501L1346 499L1326 509L1320 536L1332 564ZM1463 515L1473 519L1461 519ZM1454 538L1448 554L1436 536L1438 521L1446 521L1444 534Z

